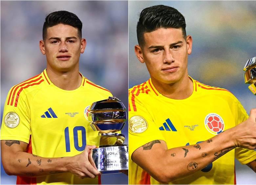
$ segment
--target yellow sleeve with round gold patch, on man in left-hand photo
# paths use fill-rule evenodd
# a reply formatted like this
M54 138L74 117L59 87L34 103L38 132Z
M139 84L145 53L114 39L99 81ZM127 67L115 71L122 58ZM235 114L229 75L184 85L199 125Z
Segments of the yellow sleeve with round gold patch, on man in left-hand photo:
M12 87L7 95L1 125L1 140L19 140L29 143L31 135L30 109L24 92L19 94L19 103L15 105L15 92ZM13 91L13 92L12 92ZM12 97L13 96L13 97Z

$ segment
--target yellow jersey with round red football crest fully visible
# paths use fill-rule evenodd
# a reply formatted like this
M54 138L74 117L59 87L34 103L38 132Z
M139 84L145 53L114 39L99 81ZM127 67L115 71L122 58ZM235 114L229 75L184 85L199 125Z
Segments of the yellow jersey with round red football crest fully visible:
M161 95L151 79L129 89L129 119L140 116L147 122L129 123L129 184L160 184L132 161L140 146L153 140L164 140L168 149L196 144L247 119L245 109L228 90L192 81L193 93L184 100ZM256 152L237 148L193 176L169 184L234 184L235 156L246 164L256 159Z

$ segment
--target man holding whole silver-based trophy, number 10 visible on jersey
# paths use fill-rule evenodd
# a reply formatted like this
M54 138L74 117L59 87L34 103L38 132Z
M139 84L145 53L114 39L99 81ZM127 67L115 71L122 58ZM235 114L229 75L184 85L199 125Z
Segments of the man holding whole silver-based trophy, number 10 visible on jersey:
M112 94L79 73L86 46L81 29L71 12L49 14L40 41L47 68L8 93L1 156L6 173L18 176L17 184L100 183L92 159L99 138L86 120L87 109Z

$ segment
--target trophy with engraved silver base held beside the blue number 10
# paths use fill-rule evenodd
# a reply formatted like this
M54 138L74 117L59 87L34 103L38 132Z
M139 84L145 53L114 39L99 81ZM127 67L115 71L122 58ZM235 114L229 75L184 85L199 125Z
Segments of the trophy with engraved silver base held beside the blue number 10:
M120 132L126 120L126 108L116 97L94 102L88 109L88 120L94 131L98 131L100 146L93 149L96 168L103 174L128 170L128 145L123 144ZM101 143L108 145L101 145Z

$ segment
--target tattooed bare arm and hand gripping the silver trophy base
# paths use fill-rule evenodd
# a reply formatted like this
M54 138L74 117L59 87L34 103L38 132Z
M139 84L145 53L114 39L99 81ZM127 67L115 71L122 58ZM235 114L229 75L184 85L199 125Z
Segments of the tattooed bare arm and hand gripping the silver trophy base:
M71 172L76 176L95 178L96 170L90 153L95 148L87 145L85 151L74 157L45 158L26 153L28 144L17 140L1 140L1 156L8 175L46 176Z

